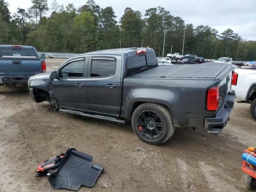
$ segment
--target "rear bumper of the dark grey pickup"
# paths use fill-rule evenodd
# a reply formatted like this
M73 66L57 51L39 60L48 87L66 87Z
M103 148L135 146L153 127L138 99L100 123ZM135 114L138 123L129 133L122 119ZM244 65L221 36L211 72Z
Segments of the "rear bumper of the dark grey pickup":
M205 128L207 128L208 133L210 134L220 134L223 128L226 126L231 110L234 106L235 102L235 92L230 91L226 102L222 106L222 108L218 111L215 118L206 118L204 121Z

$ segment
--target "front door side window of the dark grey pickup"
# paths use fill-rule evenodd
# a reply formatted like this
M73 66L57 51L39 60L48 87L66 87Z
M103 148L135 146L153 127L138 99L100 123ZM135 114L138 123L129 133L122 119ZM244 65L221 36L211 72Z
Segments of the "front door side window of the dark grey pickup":
M77 60L64 66L60 70L60 78L83 77L84 60Z

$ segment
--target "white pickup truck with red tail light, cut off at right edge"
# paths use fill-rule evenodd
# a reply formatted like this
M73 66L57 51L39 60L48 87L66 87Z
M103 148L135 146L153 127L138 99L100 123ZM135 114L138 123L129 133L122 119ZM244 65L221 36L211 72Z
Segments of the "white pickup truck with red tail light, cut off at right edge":
M249 103L252 117L256 120L256 69L236 68L232 76L232 89L238 103Z

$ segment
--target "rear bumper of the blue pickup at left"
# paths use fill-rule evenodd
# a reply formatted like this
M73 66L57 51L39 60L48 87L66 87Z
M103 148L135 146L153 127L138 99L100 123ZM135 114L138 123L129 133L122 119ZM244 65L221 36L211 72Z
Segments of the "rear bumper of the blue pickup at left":
M10 75L0 76L0 84L15 85L15 84L28 84L28 79L32 75Z

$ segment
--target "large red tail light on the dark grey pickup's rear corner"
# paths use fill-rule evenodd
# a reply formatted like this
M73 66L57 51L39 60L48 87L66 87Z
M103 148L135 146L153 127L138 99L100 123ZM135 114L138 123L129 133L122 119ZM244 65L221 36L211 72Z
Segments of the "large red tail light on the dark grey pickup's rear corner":
M220 86L215 86L208 89L207 92L207 110L216 111L219 107L219 88Z

